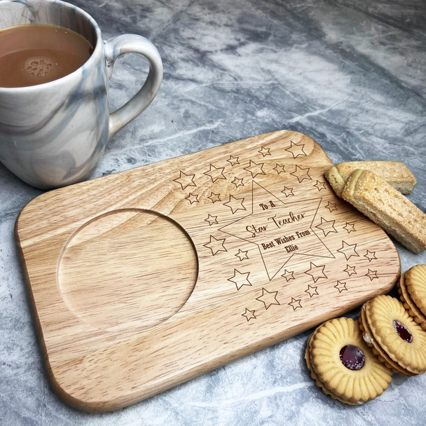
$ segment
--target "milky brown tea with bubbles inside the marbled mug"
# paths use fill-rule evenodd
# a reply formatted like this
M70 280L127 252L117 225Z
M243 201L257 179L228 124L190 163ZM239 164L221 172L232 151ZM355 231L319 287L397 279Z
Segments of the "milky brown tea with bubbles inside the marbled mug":
M91 44L71 29L18 25L0 31L0 87L48 83L71 74L92 55Z

